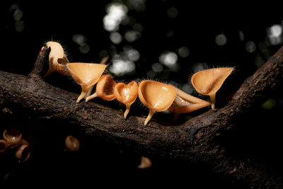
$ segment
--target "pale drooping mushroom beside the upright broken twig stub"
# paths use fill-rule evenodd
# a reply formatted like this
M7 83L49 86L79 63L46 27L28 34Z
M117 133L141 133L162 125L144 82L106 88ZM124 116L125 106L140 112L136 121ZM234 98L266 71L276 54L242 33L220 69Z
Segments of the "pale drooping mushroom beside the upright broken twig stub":
M69 76L69 72L66 69L66 67L64 67L63 64L60 64L58 62L59 58L64 59L66 62L69 62L69 60L67 59L67 56L64 53L64 49L62 45L60 45L59 42L49 41L46 43L46 46L50 47L51 50L49 54L49 69L47 73L45 74L45 76L43 77L46 78L54 71L57 71L60 74Z

